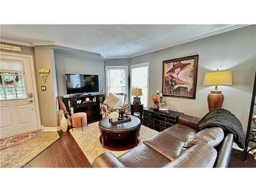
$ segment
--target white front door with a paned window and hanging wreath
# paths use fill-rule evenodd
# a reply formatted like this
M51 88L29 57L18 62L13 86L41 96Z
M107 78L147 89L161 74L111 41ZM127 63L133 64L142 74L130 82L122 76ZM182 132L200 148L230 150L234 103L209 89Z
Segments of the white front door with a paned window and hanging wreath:
M0 57L0 138L38 129L31 56ZM31 63L32 62L32 63Z

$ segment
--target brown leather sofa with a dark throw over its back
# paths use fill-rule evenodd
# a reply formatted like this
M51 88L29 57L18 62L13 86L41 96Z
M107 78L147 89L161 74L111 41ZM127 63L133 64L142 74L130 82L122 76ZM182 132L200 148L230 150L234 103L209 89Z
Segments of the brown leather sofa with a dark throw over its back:
M219 127L199 131L199 120L180 115L177 124L118 158L101 154L92 167L227 167L233 135Z

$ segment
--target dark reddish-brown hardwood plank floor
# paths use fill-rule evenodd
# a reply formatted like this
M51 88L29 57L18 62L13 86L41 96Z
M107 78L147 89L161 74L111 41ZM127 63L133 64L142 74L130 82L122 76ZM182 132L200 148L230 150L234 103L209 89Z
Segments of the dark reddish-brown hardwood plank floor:
M61 138L25 165L25 167L91 167L90 162L72 135L69 132L62 131L59 134ZM228 167L256 167L256 160L253 159L252 155L247 157L246 162L243 161L243 158L244 155L241 151L233 149Z

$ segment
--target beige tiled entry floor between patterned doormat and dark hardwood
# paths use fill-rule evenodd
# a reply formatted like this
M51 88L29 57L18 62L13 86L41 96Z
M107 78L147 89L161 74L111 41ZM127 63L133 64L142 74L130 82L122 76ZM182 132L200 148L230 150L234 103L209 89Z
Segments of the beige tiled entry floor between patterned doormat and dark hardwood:
M0 150L0 167L23 167L59 139L58 132L42 132L40 138Z

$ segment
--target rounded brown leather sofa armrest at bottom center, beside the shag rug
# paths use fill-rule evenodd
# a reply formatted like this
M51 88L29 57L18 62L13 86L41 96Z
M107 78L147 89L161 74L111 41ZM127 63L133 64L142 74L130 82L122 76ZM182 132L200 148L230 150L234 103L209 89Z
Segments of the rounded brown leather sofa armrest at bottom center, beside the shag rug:
M99 155L92 163L95 168L122 168L125 167L111 152Z

